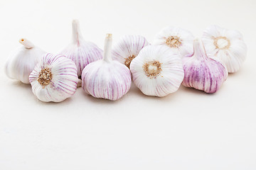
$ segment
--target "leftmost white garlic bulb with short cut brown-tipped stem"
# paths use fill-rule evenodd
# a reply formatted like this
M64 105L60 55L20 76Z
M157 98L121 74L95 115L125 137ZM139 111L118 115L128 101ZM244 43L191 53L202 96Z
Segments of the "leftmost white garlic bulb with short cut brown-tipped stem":
M17 79L24 84L29 84L29 74L31 74L40 57L46 52L35 47L32 42L25 38L21 38L19 42L22 46L11 53L4 69L10 79Z

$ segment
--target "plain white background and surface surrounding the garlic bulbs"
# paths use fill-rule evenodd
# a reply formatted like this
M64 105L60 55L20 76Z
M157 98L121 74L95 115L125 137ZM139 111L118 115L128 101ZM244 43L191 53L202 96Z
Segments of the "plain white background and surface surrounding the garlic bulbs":
M247 1L0 1L0 169L256 169L256 3ZM119 101L82 89L43 103L31 86L8 79L4 62L20 38L48 52L71 39L80 20L86 40L103 47L124 34L152 42L165 26L201 37L216 24L239 30L247 60L216 94L181 86L164 98L136 86Z

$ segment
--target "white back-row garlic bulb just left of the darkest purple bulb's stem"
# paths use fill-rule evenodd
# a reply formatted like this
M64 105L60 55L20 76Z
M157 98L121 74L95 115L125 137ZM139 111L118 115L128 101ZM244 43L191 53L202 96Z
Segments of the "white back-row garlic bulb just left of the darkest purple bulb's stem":
M188 30L169 26L156 35L153 45L166 45L181 57L190 57L193 55L193 40Z

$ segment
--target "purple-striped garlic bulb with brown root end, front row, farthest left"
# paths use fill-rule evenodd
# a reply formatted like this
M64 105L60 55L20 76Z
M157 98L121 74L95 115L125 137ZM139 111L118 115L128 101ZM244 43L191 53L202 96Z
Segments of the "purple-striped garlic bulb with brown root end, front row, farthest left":
M75 63L64 55L44 55L29 76L33 94L41 101L60 102L73 96L78 84Z

